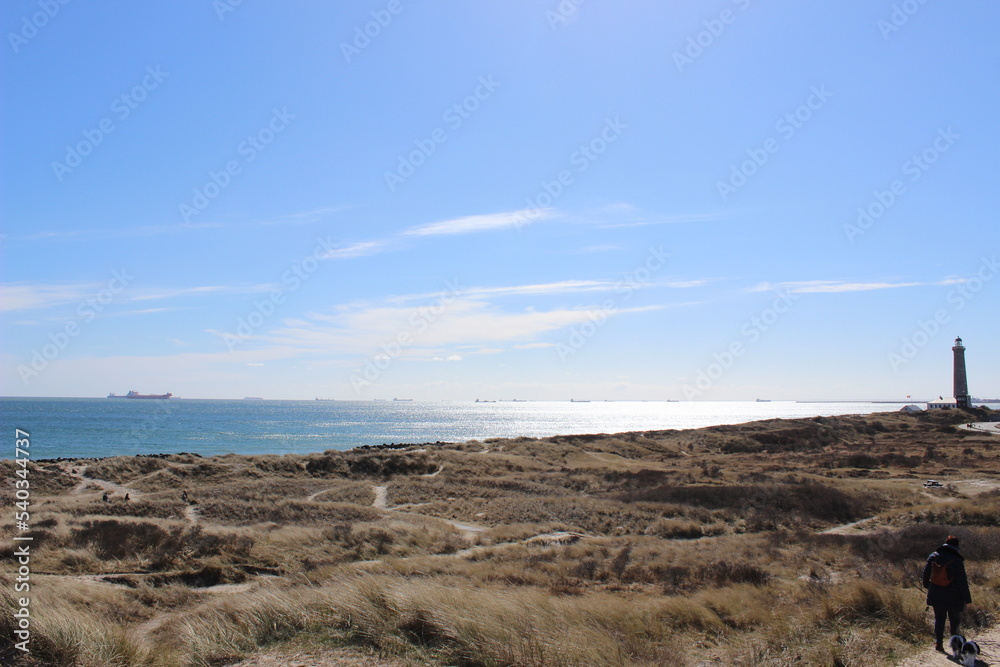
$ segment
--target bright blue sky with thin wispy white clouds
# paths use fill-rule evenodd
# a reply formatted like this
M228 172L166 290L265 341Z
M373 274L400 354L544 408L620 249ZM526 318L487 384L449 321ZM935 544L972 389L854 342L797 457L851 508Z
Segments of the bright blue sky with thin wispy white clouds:
M0 12L2 395L1000 395L995 2Z

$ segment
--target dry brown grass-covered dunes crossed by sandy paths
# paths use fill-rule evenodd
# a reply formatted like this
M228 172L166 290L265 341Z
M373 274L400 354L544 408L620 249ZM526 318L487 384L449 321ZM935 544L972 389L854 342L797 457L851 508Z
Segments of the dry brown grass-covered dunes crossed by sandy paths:
M891 661L927 640L920 569L949 533L969 558L970 631L1000 612L1000 492L979 472L1000 448L948 429L878 415L43 462L34 662L0 656L207 667L294 639L464 667ZM141 497L102 502L64 470L84 465ZM955 485L928 493L926 477Z

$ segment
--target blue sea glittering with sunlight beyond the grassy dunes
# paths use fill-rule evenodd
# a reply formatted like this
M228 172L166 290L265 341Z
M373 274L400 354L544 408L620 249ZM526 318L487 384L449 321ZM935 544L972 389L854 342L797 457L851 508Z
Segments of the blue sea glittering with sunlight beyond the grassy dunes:
M192 452L286 454L390 442L620 433L737 424L775 417L867 414L892 403L739 401L247 401L3 398L0 423L31 434L32 458Z

